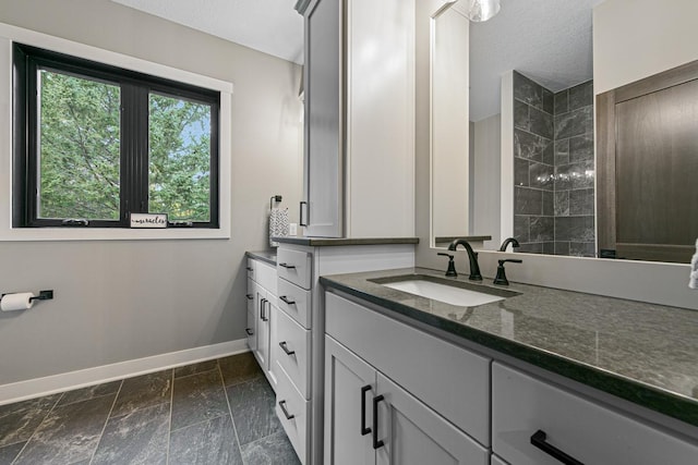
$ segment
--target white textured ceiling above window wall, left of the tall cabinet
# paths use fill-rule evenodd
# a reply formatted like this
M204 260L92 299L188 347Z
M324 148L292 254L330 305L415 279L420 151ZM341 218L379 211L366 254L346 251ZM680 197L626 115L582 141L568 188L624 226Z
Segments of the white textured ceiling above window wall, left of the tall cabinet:
M301 63L296 0L112 0L245 47Z

